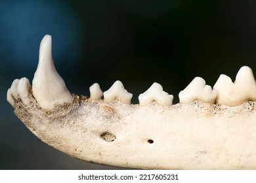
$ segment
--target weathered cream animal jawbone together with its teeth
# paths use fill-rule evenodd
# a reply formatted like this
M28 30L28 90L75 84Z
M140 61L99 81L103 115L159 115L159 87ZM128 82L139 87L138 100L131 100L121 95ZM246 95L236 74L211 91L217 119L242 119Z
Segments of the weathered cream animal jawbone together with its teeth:
M91 88L90 98L70 95L54 69L50 42L49 36L42 41L41 49L47 52L39 59L32 89L28 79L21 78L7 91L14 114L43 142L72 157L118 167L256 169L256 102L247 101L255 99L250 94L255 80L248 67L238 72L235 84L227 76L218 80L217 105L197 100L171 105L171 95L160 84L140 95L144 105L131 105L127 91L124 101L117 97L124 91L121 82L104 92L104 99L98 85ZM188 89L187 95L198 93ZM160 102L165 101L160 95L167 103ZM222 100L223 95L232 96L227 100L235 106Z

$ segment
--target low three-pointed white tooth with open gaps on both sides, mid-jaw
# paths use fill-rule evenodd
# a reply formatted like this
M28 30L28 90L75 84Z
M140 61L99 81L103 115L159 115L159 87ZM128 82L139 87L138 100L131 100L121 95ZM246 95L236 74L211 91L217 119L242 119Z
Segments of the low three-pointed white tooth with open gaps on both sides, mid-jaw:
M140 105L148 105L156 101L160 105L171 106L173 105L173 95L169 95L163 91L163 87L154 82L146 92L139 95Z

